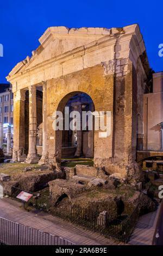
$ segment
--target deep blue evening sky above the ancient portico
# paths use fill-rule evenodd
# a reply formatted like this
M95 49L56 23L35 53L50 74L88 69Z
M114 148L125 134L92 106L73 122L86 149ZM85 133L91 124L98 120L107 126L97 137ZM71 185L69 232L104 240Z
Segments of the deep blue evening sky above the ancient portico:
M163 44L162 5L160 1L55 1L33 0L0 2L0 83L32 50L48 27L123 27L139 23L149 63L154 71L163 70L158 45Z

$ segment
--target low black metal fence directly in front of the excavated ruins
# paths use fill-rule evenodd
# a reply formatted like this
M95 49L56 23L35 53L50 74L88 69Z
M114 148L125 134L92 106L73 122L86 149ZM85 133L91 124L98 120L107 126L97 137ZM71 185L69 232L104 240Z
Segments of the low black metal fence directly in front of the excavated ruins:
M14 198L16 198L21 191L20 188L12 187ZM122 215L115 217L108 215L106 211L99 211L98 207L96 209L86 209L79 205L73 205L69 201L66 202L62 200L61 202L56 202L56 200L50 196L37 193L32 194L33 197L26 203L26 208L49 212L53 216L68 220L105 236L115 237L123 242L128 241L139 218L138 208L136 208L130 216Z

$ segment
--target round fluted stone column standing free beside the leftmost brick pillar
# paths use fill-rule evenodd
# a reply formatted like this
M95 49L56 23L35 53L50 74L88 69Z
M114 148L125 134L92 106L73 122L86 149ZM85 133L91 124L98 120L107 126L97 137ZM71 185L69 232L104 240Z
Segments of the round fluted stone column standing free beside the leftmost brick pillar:
M29 87L29 149L26 163L37 163L39 157L36 154L36 135L37 135L37 120L36 120L36 87Z

